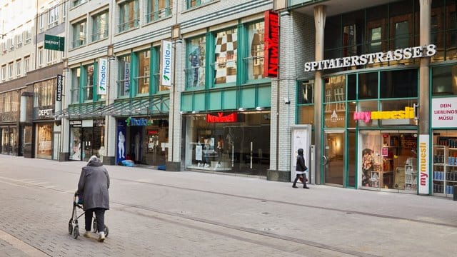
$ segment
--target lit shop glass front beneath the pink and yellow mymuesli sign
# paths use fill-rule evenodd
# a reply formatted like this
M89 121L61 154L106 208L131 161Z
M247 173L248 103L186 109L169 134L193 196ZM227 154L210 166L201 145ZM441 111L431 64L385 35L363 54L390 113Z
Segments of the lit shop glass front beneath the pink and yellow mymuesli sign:
M417 136L416 131L361 131L361 188L416 193Z

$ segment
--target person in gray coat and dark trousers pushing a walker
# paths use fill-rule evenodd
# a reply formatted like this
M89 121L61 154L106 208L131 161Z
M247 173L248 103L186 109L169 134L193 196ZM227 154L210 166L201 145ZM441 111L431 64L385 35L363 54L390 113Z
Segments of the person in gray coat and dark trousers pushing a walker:
M105 211L109 210L109 174L97 156L91 156L81 171L78 196L83 199L85 237L90 237L93 213L97 220L99 241L105 240Z

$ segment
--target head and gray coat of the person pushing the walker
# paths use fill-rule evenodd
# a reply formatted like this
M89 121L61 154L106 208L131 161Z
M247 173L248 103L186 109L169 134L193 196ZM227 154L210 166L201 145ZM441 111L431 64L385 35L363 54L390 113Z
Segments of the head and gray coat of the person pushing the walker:
M91 158L82 168L78 194L84 199L84 211L91 208L109 209L109 175L99 158Z

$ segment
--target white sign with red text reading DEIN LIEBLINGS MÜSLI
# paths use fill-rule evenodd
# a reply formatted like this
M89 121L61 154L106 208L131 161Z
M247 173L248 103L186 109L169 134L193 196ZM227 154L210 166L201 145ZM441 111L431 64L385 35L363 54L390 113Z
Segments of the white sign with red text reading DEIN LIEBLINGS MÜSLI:
M446 97L431 99L431 126L433 128L454 128L457 121L457 99Z

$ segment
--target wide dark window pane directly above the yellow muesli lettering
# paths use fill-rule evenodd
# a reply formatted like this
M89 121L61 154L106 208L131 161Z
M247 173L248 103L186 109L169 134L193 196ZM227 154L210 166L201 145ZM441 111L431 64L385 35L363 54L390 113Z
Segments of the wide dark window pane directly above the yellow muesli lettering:
M417 97L417 69L381 72L381 98Z

